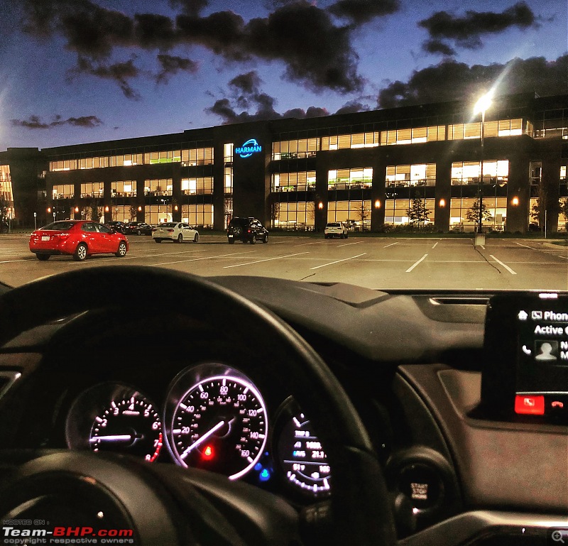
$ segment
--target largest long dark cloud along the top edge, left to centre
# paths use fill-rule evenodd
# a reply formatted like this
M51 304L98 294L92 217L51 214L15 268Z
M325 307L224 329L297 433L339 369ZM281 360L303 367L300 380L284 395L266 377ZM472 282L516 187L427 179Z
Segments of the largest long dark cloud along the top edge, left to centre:
M351 21L366 21L394 9L397 1L339 0L332 7ZM91 0L23 0L23 28L38 37L62 36L78 58L107 65L121 48L168 53L180 45L201 45L231 62L282 62L285 78L315 91L347 93L364 84L351 43L353 28L336 25L329 11L307 0L278 2L267 17L248 23L233 11L200 15L207 5L203 0L170 4L181 10L175 19L154 13L129 17ZM121 87L132 95L124 82Z

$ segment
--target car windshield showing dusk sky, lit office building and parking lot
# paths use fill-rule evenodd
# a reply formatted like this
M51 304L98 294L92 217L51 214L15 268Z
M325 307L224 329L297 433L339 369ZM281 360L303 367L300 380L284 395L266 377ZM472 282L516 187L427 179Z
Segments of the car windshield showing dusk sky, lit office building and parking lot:
M0 280L72 267L79 241L28 238L82 219L135 227L121 263L197 275L566 290L566 22L560 0L11 3Z

